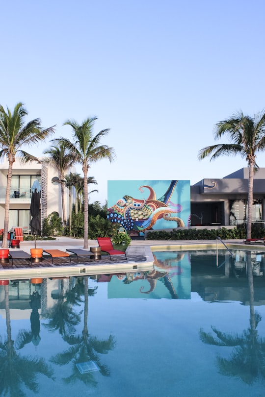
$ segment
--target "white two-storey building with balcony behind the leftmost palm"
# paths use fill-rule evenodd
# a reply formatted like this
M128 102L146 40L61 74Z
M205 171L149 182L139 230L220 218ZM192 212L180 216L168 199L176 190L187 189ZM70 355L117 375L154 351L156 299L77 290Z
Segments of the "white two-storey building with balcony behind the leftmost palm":
M2 220L0 228L3 227L4 220L7 170L8 162L5 160L0 164L0 219ZM36 162L25 165L19 161L19 158L16 159L13 164L10 191L10 228L13 226L29 227L31 186L34 180L38 180L41 184L41 220L53 211L58 212L62 217L61 189L58 183L52 181L54 177L58 177L58 174L52 167ZM68 195L65 194L65 210L68 217L67 200Z

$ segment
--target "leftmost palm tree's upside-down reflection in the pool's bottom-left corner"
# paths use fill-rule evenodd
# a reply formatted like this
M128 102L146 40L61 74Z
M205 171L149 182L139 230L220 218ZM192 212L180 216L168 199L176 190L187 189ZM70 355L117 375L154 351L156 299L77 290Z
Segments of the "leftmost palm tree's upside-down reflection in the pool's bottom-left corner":
M7 339L0 341L0 395L6 396L9 393L10 397L26 397L27 394L21 389L22 385L37 393L37 373L53 379L53 370L43 358L21 356L16 352L11 337L8 285L4 288Z

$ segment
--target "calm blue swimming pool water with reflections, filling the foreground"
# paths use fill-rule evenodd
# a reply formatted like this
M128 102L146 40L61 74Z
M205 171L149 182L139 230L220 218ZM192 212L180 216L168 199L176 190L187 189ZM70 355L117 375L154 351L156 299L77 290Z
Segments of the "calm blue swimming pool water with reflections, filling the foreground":
M144 273L1 285L0 396L263 396L265 253L154 256Z

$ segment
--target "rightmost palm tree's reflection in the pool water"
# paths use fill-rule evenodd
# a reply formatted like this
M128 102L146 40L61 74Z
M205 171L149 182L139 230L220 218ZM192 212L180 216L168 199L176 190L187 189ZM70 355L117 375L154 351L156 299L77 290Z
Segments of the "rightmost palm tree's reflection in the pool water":
M230 359L217 357L217 365L223 375L239 377L243 382L252 384L256 379L265 379L265 338L258 336L257 325L261 316L254 310L254 288L251 254L247 252L247 273L250 291L250 327L241 335L228 334L212 327L215 336L201 328L200 338L204 343L215 346L235 347Z

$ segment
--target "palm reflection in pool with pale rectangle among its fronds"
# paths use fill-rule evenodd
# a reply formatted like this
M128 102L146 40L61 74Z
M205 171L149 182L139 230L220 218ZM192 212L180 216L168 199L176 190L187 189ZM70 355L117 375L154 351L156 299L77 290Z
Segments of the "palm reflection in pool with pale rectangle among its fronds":
M84 277L84 324L81 335L65 337L66 342L72 346L63 353L56 354L52 357L52 362L59 365L65 365L72 361L72 373L70 376L63 378L65 383L71 383L77 380L82 381L86 385L96 385L97 382L93 377L92 372L80 373L76 364L85 363L87 361L94 361L99 371L107 376L109 369L100 361L98 353L106 354L109 350L114 348L115 342L112 335L107 339L98 339L90 336L87 326L88 319L88 277Z

